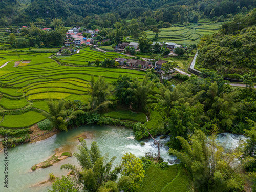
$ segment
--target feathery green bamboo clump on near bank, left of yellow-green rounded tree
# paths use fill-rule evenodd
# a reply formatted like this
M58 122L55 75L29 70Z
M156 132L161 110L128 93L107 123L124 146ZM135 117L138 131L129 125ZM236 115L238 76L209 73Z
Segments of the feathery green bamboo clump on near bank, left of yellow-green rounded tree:
M78 146L79 152L74 156L77 158L81 168L78 168L71 164L65 164L61 166L61 169L71 170L75 176L76 184L78 187L83 186L85 191L97 191L102 188L110 188L110 181L117 179L117 174L120 172L120 167L115 167L112 170L112 164L115 160L115 156L108 161L108 156L101 155L99 147L96 142L92 142L91 149L87 147L86 141L81 141L81 146Z

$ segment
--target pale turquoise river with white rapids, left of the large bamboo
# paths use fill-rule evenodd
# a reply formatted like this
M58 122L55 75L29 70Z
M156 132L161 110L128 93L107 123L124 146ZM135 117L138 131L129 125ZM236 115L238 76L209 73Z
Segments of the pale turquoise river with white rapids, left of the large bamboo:
M84 132L89 132L93 135L93 138L86 139L89 145L93 141L96 141L102 154L109 153L109 157L117 157L114 164L119 164L122 155L126 152L131 152L139 157L144 156L146 152L157 153L158 151L152 139L148 139L147 142L144 141L145 145L141 146L138 141L127 138L133 135L131 129L98 125L81 126L78 129L69 130L67 133L61 132L43 141L27 143L10 149L8 152L8 189L4 188L3 184L4 156L2 152L0 154L0 191L47 191L51 184L49 182L43 185L39 183L46 181L49 173L54 173L55 176L66 175L67 171L60 170L60 166L66 163L78 165L76 158L69 157L51 167L37 169L35 172L31 171L31 167L47 160L54 154L56 148L59 148L61 151L76 152L77 145L79 144L77 137ZM159 140L159 137L157 137L157 139ZM164 143L167 142L167 140L168 138L161 139L160 142ZM161 147L160 154L164 160L175 160L176 158L169 156L167 151L167 147Z

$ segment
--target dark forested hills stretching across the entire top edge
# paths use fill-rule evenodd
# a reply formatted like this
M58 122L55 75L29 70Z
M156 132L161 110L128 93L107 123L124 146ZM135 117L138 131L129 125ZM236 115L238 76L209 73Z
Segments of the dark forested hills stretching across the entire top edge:
M15 6L18 4L22 6ZM105 13L114 13L116 19L126 20L140 17L140 19L153 18L156 22L197 22L198 18L213 18L244 12L256 7L256 1L4 0L0 5L3 10L0 26L6 26L33 22L38 18L62 18L64 21L68 19L71 22L78 22L84 17Z

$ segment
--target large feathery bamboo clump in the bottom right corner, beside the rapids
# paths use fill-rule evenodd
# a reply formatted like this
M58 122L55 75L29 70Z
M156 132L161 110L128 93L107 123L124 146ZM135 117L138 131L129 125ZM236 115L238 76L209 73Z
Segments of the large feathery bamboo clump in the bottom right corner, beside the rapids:
M244 174L240 168L254 161L251 157L242 158L240 147L226 153L224 148L217 145L217 126L207 140L201 130L188 138L177 137L183 150L170 149L169 154L181 160L181 164L193 178L193 187L197 191L244 191ZM209 144L208 144L209 143Z

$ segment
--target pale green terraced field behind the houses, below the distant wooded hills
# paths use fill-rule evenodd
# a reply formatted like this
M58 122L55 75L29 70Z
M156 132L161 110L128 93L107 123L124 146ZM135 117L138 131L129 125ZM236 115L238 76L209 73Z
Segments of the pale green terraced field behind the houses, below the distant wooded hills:
M198 43L204 34L213 34L218 32L222 22L190 24L184 27L169 27L160 29L160 42L175 42L177 44L189 45ZM147 38L152 39L155 34L152 31L146 31ZM138 39L128 39L129 41L138 41Z

